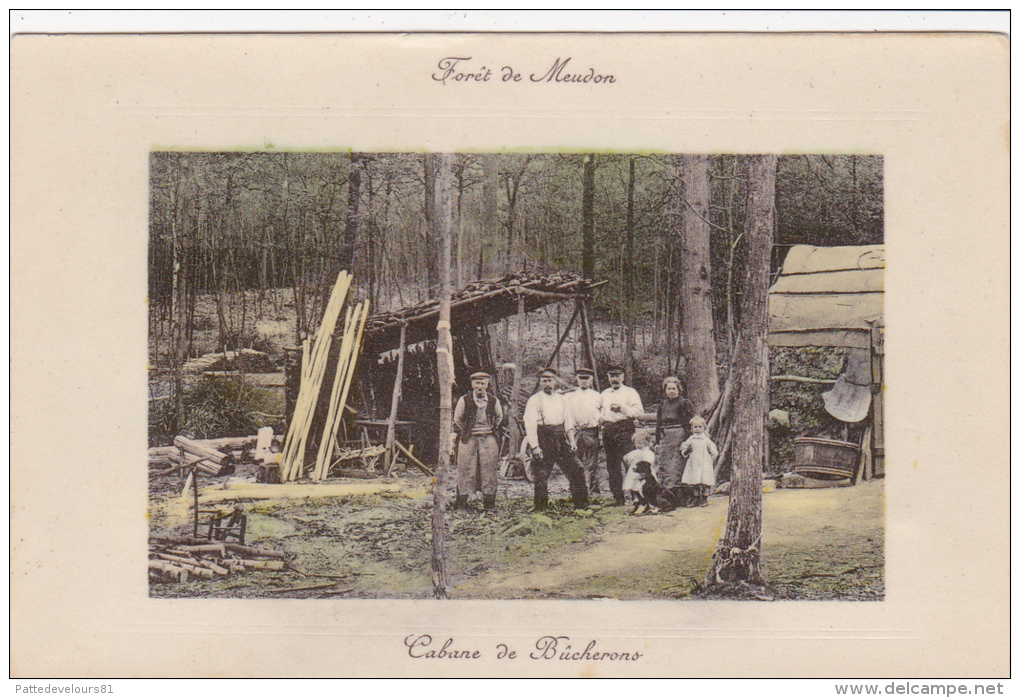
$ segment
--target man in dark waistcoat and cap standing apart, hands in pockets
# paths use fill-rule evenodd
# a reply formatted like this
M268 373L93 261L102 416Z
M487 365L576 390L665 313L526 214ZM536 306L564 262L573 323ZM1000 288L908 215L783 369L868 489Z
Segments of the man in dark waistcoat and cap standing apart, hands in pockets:
M471 373L471 392L457 400L453 410L453 431L457 441L457 500L463 507L467 498L481 490L481 505L496 508L499 482L500 444L497 433L503 423L503 405L489 392L490 376Z

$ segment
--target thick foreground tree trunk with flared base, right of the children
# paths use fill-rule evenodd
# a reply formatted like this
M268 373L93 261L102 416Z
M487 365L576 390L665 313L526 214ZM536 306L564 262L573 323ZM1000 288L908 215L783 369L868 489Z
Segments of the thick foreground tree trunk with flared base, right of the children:
M762 463L768 409L768 280L775 223L775 155L748 156L747 276L733 380L732 479L726 531L705 579L710 593L760 593Z

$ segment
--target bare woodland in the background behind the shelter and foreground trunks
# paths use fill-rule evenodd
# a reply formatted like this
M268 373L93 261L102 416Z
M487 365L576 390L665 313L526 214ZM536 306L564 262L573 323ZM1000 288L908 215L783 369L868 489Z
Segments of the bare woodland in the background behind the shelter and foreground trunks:
M459 153L454 156L454 289L513 270L568 270L604 282L597 353L635 377L682 370L683 156ZM706 293L720 370L738 320L747 256L744 158L707 158ZM373 311L436 297L435 183L419 153L154 152L149 226L150 366L165 377L209 350L259 348L260 323L293 314L295 346L313 332L339 269ZM690 188L691 185L688 184ZM795 244L883 239L882 161L781 155L772 268ZM241 302L247 299L246 302ZM215 346L196 331L213 306ZM290 315L288 315L290 316ZM688 318L690 319L690 318ZM504 323L505 326L505 323ZM264 335L264 333L263 333ZM509 356L506 328L497 360ZM608 343L608 344L607 344ZM264 347L263 347L264 348ZM652 378L648 379L654 383ZM162 415L167 432L186 418Z

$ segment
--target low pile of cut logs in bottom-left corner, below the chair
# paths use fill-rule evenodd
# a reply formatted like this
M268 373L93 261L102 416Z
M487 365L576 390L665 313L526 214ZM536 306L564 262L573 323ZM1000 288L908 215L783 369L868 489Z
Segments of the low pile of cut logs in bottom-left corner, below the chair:
M287 568L282 550L207 541L201 538L154 538L149 541L149 577L187 582L240 575L249 569L280 571Z

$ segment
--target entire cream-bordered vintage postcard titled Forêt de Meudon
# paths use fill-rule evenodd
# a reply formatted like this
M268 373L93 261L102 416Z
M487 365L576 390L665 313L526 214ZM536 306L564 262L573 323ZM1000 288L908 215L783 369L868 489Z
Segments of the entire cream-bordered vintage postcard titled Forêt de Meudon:
M15 38L11 674L1008 676L1008 68Z

